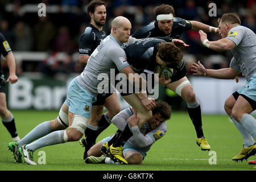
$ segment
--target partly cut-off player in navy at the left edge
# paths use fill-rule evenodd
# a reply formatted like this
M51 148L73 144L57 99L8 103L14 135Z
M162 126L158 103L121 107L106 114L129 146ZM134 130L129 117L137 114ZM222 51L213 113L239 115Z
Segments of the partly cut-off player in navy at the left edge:
M11 137L15 142L19 140L19 137L15 127L14 116L13 114L11 114L11 112L7 109L6 106L5 82L10 81L11 84L14 84L18 81L18 77L16 76L16 66L13 52L11 51L11 48L5 37L0 33L0 58L1 55L3 55L6 58L7 65L9 68L9 77L5 81L5 76L3 75L3 71L0 64L0 117L2 118L3 125L5 125L6 129L9 131ZM13 148L10 148L10 150L13 150Z

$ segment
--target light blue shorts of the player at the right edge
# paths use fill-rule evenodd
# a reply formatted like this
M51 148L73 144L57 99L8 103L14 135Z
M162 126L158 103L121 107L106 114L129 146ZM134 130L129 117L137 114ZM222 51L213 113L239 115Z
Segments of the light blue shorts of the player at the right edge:
M243 94L256 101L256 73L246 81L246 84L237 90L239 94Z

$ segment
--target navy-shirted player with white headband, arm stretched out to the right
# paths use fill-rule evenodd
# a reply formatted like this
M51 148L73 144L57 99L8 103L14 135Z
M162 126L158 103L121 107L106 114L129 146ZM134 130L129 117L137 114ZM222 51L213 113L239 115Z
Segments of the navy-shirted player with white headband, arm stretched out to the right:
M142 39L156 36L168 36L179 39L183 31L187 30L219 32L216 27L211 27L197 21L189 21L174 17L175 11L170 5L163 4L156 7L155 14L156 20L135 31L132 35L133 38ZM196 94L193 91L188 78L184 75L184 77L181 77L179 80L172 81L170 84L166 85L166 87L179 94L179 96L187 102L189 117L195 126L197 134L196 143L201 147L201 150L210 150L210 146L203 134L200 104L196 99Z

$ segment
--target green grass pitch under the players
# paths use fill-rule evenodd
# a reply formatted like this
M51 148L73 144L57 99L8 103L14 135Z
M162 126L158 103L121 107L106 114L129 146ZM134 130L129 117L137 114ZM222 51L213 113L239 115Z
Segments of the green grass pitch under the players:
M24 137L39 123L56 117L58 111L12 111L19 137ZM141 165L85 164L84 148L79 142L68 142L40 148L34 152L38 163L40 151L46 154L46 164L29 166L14 163L7 145L10 134L0 126L1 171L250 171L256 170L247 162L235 163L232 157L242 150L242 137L227 115L203 115L204 135L212 149L201 151L196 145L196 133L186 112L172 112L167 122L166 135L153 144ZM114 125L105 130L97 140L108 137L116 130ZM216 164L209 159L216 154ZM251 156L249 160L255 160ZM213 160L210 160L213 162Z

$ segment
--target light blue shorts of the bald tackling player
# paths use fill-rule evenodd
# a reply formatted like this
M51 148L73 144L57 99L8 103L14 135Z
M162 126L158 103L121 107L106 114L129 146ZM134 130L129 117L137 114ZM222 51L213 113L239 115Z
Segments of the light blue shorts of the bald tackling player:
M89 119L93 102L96 102L96 96L82 88L74 78L68 85L68 96L64 102L68 106L68 111Z

